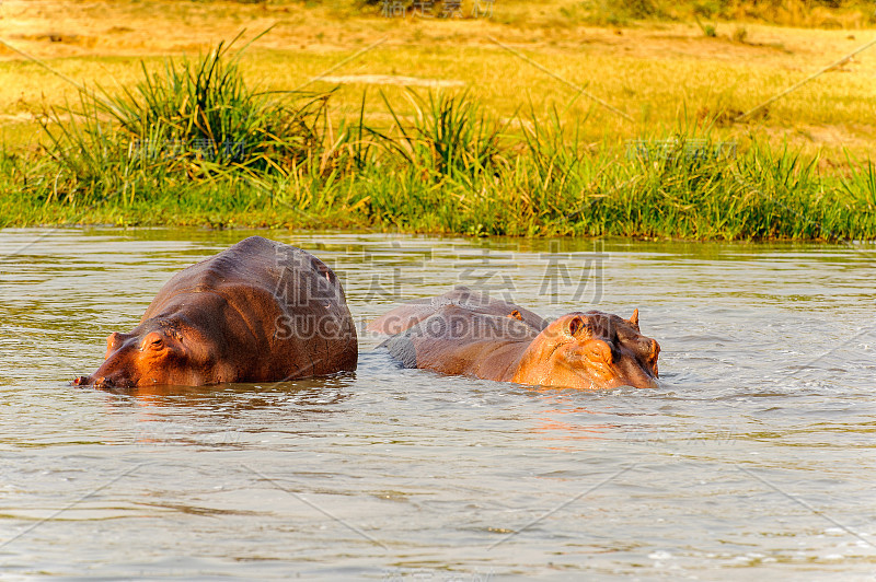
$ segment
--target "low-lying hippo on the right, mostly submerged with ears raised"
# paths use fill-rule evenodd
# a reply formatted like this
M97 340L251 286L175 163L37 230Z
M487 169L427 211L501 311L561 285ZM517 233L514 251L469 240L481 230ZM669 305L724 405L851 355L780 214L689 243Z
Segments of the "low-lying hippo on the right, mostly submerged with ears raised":
M630 319L589 311L548 323L512 303L461 288L371 322L406 368L542 386L657 385L660 346Z

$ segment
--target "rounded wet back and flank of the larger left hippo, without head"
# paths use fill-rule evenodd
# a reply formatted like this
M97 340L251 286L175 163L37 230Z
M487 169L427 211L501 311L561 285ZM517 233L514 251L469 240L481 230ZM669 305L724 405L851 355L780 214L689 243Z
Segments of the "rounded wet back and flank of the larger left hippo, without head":
M221 298L237 312L264 365L279 365L280 377L356 369L356 326L341 282L300 248L261 236L245 238L171 278L141 323L196 303L199 294Z

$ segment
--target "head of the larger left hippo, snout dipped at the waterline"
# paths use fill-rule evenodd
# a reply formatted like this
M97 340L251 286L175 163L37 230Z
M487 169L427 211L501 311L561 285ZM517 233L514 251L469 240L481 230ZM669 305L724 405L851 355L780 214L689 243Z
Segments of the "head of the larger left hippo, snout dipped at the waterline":
M103 365L73 381L95 388L146 385L199 386L228 381L217 365L216 340L180 322L149 319L129 334L106 338Z

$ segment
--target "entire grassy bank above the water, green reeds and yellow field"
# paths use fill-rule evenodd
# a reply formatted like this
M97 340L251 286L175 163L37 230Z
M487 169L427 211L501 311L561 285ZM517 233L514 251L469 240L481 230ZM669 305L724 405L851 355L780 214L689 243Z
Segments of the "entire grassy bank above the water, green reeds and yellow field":
M157 3L2 4L3 38L55 72L0 61L0 225L876 237L876 48L736 120L867 42L860 11L825 31ZM220 45L244 26L273 28Z

